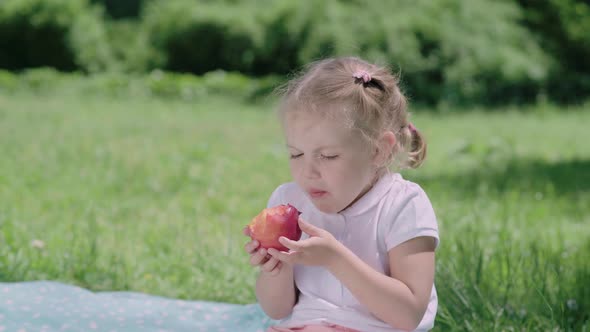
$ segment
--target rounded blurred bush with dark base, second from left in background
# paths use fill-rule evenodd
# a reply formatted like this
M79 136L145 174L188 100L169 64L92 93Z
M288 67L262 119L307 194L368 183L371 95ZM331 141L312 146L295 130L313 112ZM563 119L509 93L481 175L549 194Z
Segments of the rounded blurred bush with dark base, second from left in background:
M150 2L143 23L153 63L195 74L216 69L251 72L261 43L253 9L208 1Z

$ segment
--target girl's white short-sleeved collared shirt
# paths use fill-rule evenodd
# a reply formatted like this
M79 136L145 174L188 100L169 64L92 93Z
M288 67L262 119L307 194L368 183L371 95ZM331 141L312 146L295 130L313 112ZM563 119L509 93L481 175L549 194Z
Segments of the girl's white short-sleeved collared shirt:
M438 226L430 200L417 184L399 173L386 174L346 210L327 214L319 211L294 182L279 186L268 207L291 204L301 218L321 227L375 270L389 275L388 251L409 239L432 236L438 246ZM301 239L309 236L303 233ZM279 326L332 323L360 331L399 331L373 316L327 269L295 265L299 300L291 316ZM434 326L438 299L433 285L428 308L418 329Z

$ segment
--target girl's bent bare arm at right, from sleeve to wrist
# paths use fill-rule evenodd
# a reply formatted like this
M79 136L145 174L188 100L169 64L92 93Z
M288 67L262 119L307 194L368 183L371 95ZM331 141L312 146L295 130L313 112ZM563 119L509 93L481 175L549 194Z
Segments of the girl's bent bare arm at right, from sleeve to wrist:
M408 240L389 251L390 275L386 276L342 246L327 268L375 316L387 324L414 330L420 324L434 282L432 237Z

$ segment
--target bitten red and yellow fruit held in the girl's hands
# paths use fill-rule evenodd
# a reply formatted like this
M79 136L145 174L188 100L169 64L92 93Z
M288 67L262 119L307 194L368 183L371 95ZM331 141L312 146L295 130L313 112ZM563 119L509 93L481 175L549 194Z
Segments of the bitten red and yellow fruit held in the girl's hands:
M299 240L301 237L298 222L300 214L301 212L291 204L266 208L244 228L244 234L258 241L262 248L288 251L289 249L279 242L279 238L284 236L294 241Z

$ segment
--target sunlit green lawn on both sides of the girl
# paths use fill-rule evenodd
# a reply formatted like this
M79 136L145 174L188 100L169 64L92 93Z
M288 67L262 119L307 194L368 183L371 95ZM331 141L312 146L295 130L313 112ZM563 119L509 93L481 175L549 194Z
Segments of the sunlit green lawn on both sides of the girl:
M589 108L413 114L436 330L590 328ZM275 120L232 98L0 93L0 281L255 301L241 229L289 180Z

